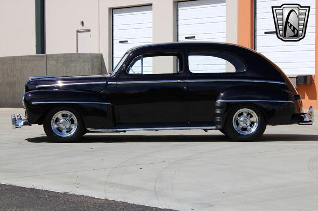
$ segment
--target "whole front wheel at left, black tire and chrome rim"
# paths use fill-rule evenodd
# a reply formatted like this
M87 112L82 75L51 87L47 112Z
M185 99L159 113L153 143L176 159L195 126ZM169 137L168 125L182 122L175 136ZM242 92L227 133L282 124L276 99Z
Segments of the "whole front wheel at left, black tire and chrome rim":
M71 107L56 107L44 118L45 134L55 142L72 142L85 133L83 120L79 112Z

